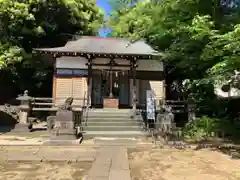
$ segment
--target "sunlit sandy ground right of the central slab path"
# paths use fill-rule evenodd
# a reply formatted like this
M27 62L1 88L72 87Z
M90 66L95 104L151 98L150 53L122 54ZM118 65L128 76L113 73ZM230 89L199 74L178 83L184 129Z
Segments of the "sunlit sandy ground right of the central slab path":
M132 180L239 180L240 160L204 150L130 149Z

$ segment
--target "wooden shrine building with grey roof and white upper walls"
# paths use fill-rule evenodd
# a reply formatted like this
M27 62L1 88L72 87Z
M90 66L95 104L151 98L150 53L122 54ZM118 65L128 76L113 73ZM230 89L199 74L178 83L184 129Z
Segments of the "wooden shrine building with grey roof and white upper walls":
M54 57L57 104L73 97L75 105L136 108L146 103L147 90L165 99L162 54L144 41L81 36L63 47L34 51Z

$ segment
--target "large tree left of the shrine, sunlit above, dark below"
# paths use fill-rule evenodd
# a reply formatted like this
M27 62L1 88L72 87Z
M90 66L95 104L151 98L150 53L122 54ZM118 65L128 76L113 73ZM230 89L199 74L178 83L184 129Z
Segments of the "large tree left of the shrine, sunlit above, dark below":
M95 0L0 0L1 89L46 96L52 64L33 55L32 48L62 46L73 35L96 35L103 16Z

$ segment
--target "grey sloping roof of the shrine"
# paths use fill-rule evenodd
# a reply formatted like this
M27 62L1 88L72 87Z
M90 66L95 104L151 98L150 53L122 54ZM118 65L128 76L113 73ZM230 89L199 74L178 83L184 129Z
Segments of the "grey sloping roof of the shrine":
M61 53L96 53L96 54L131 54L131 55L161 55L144 41L131 41L123 38L100 38L81 36L75 41L69 41L63 47L38 48L35 51Z

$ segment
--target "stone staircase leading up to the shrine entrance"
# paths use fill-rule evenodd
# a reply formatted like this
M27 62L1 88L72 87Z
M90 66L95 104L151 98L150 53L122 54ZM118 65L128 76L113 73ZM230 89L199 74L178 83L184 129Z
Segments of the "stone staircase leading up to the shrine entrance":
M129 109L90 109L85 137L135 138L143 136L141 116L130 118Z

